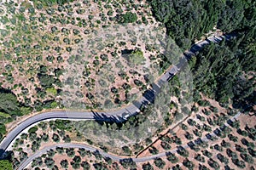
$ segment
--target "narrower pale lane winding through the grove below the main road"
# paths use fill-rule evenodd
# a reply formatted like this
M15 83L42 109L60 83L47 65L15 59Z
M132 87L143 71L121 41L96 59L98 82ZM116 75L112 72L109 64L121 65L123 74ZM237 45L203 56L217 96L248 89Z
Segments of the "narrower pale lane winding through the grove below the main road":
M232 116L229 120L234 122L237 119L237 117L239 117L239 116L241 116L241 112L238 112L235 116ZM224 123L224 126L226 126L226 127L229 126L229 124L227 122ZM216 134L213 133L213 132L210 135L216 136ZM209 140L210 139L207 139L207 137L201 138L201 141L207 142ZM195 145L196 145L196 143L195 143ZM37 158L38 156L42 156L44 153L47 152L47 150L50 150L50 149L55 150L57 147L63 147L63 148L84 148L85 150L90 150L91 152L98 151L102 156L109 157L113 161L120 161L120 160L123 160L123 159L131 158L131 157L124 157L124 156L114 156L112 154L108 154L108 153L106 153L106 152L104 152L102 150L98 150L95 147L92 147L92 146L87 145L87 144L75 144L75 143L53 144L53 145L45 147L43 150L39 150L37 153L33 154L32 156L29 156L25 161L22 161L20 163L20 167L18 167L18 170L23 170L24 168L26 168L32 162L33 159ZM186 149L186 148L189 148L189 145L188 144L183 144L183 145L181 145L181 147L183 147L183 149ZM158 158L158 157L164 157L164 156L166 156L166 155L168 155L170 153L176 153L177 150L178 149L176 148L176 149L167 150L166 152L161 152L159 154L152 155L152 156L145 156L145 157L138 157L138 158L131 158L131 159L134 162L150 161L150 160L154 160L155 158Z

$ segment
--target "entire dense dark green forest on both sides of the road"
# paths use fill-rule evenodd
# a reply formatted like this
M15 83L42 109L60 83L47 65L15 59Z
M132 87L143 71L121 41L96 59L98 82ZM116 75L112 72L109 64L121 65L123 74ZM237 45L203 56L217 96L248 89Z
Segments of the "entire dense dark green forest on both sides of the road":
M190 59L195 91L223 104L236 106L255 101L256 2L251 0L148 0L154 17L180 48L188 49L213 28L236 38L211 44ZM198 93L195 93L198 94ZM195 99L196 100L196 99Z

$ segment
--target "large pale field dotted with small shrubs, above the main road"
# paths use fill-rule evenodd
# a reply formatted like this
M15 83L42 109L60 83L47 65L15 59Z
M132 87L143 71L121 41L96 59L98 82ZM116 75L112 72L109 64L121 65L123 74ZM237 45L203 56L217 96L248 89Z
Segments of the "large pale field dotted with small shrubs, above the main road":
M9 2L0 24L2 87L37 111L115 109L164 70L165 27L145 1Z

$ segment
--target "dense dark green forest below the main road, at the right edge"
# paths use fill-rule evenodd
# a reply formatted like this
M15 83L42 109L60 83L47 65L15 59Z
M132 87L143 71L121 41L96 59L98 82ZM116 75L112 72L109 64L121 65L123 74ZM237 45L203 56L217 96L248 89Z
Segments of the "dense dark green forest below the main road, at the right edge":
M235 106L255 102L255 29L238 34L232 41L212 43L189 61L195 89Z

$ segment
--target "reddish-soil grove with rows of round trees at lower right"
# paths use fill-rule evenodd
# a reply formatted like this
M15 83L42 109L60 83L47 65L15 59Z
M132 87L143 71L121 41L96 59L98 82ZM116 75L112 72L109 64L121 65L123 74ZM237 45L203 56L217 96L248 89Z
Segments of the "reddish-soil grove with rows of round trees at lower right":
M236 110L221 107L206 97L203 101L205 105L197 105L196 111L179 126L160 133L160 138L148 144L137 157L166 152L166 158L162 159L165 163L159 167L162 169L255 168L253 112L231 119L237 114ZM154 161L150 163L153 165Z

